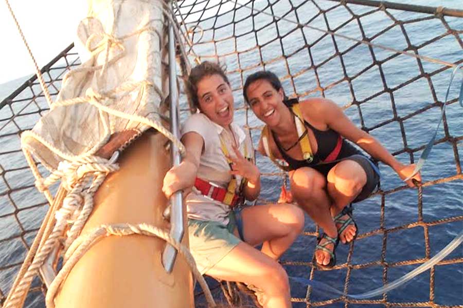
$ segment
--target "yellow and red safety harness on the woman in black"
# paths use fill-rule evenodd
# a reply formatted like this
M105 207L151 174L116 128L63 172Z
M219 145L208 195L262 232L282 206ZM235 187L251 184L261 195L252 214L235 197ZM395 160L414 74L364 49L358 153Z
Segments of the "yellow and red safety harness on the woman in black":
M299 104L295 103L290 108L291 108L290 110L292 110L292 113L294 114L294 122L296 124L297 136L299 137L298 143L299 143L300 150L302 152L302 157L304 157L304 160L306 160L308 163L311 163L313 161L312 148L310 147L310 141L309 141L309 137L307 134L307 127L304 124L304 118L302 118L302 113L300 112ZM263 144L266 155L282 170L284 171L291 170L291 168L288 165L283 165L279 161L276 160L275 156L270 150L269 136L270 136L269 127L265 125L262 128L262 144ZM327 158L323 160L322 162L329 163L329 162L334 161L339 155L342 145L343 145L343 139L341 135L339 135L337 138L336 146L331 151L331 153L329 153Z

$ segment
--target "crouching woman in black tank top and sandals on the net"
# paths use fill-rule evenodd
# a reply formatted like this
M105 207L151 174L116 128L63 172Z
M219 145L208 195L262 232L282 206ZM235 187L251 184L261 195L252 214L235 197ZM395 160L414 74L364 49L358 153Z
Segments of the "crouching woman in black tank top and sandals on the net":
M274 161L287 163L284 169L290 172L292 197L324 230L315 248L314 264L334 266L339 240L348 243L357 235L347 205L365 199L379 182L377 164L347 140L389 165L402 180L413 175L415 165L397 161L332 101L289 100L272 72L248 76L243 95L257 118L266 124L259 151ZM421 181L419 174L412 179ZM407 184L414 186L412 180Z

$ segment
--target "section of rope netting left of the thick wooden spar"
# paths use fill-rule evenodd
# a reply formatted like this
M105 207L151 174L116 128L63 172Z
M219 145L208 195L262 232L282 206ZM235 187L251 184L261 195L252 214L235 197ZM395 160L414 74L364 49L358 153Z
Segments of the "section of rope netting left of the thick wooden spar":
M41 69L53 101L65 73L80 65L73 46L68 46ZM45 196L35 188L21 150L20 135L31 129L49 106L34 75L4 99L0 108L0 301L3 304L48 210ZM40 164L38 167L44 174L49 173ZM51 189L52 195L57 188ZM43 282L36 277L25 306L44 306L44 291Z

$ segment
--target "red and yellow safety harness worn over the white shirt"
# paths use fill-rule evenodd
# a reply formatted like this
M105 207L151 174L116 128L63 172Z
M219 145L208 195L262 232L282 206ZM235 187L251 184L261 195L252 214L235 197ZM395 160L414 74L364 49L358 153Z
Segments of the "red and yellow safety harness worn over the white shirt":
M219 135L219 139L220 139L220 147L222 149L222 153L227 159L228 165L230 166L230 169L231 169L231 164L233 162L229 159L228 149L220 135ZM247 160L251 161L252 157L248 157L247 153L248 153L247 144L246 142L244 142L244 157ZM226 189L218 186L215 183L211 183L209 181L206 181L200 178L196 178L196 180L194 181L194 187L196 187L201 192L201 194L204 195L205 197L225 203L229 205L230 207L234 207L237 203L242 201L243 197L242 197L241 192L242 192L244 183L245 183L245 179L241 178L241 182L238 184L236 176L233 175L231 177L230 182L228 182Z

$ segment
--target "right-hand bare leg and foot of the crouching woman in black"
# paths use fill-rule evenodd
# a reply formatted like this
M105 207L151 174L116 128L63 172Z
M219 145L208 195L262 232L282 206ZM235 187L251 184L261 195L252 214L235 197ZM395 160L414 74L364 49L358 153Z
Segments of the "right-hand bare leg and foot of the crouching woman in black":
M336 164L331 168L327 179L328 193L333 199L333 206L331 207L333 217L360 194L367 181L365 170L360 164L351 160ZM343 219L347 219L347 215ZM340 234L341 242L352 241L355 233L357 233L357 228L354 225L347 226Z

